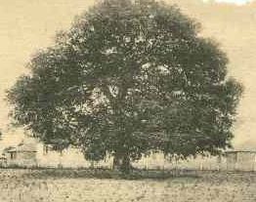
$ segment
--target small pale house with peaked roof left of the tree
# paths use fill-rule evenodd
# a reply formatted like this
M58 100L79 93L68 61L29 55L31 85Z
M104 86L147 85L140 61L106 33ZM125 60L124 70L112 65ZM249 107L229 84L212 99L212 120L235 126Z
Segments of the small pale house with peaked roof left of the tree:
M32 141L21 141L17 146L9 146L3 150L6 166L33 167L36 162L36 145Z

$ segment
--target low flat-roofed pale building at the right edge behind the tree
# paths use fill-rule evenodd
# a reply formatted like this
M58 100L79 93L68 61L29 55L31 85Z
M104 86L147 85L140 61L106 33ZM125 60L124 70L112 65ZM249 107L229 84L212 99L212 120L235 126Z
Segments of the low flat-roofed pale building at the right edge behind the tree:
M256 151L226 151L228 171L256 171Z

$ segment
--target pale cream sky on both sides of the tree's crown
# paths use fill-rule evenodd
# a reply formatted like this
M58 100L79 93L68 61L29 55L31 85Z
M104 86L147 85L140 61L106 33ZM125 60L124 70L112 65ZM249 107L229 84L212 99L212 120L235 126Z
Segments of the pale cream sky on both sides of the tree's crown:
M4 92L26 72L25 63L36 50L51 45L56 31L68 29L76 15L95 0L0 0L0 148L21 141L22 132L8 131ZM216 39L230 59L230 75L245 92L235 124L235 147L256 148L256 2L222 0L165 0L202 24L202 35ZM218 0L221 1L221 0Z

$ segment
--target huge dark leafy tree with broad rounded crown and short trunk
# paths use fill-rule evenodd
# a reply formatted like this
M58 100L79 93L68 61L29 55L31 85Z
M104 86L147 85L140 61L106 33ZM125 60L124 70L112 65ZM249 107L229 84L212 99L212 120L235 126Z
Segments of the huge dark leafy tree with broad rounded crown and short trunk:
M241 85L198 30L153 0L98 3L32 58L31 73L8 92L12 116L87 159L111 154L123 171L150 151L217 154L231 146Z

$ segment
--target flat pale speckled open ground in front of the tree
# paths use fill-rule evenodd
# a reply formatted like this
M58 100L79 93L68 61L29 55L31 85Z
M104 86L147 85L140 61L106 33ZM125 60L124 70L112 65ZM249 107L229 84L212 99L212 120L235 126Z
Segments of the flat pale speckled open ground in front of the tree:
M255 202L256 173L0 170L0 202ZM123 178L126 178L123 179Z

